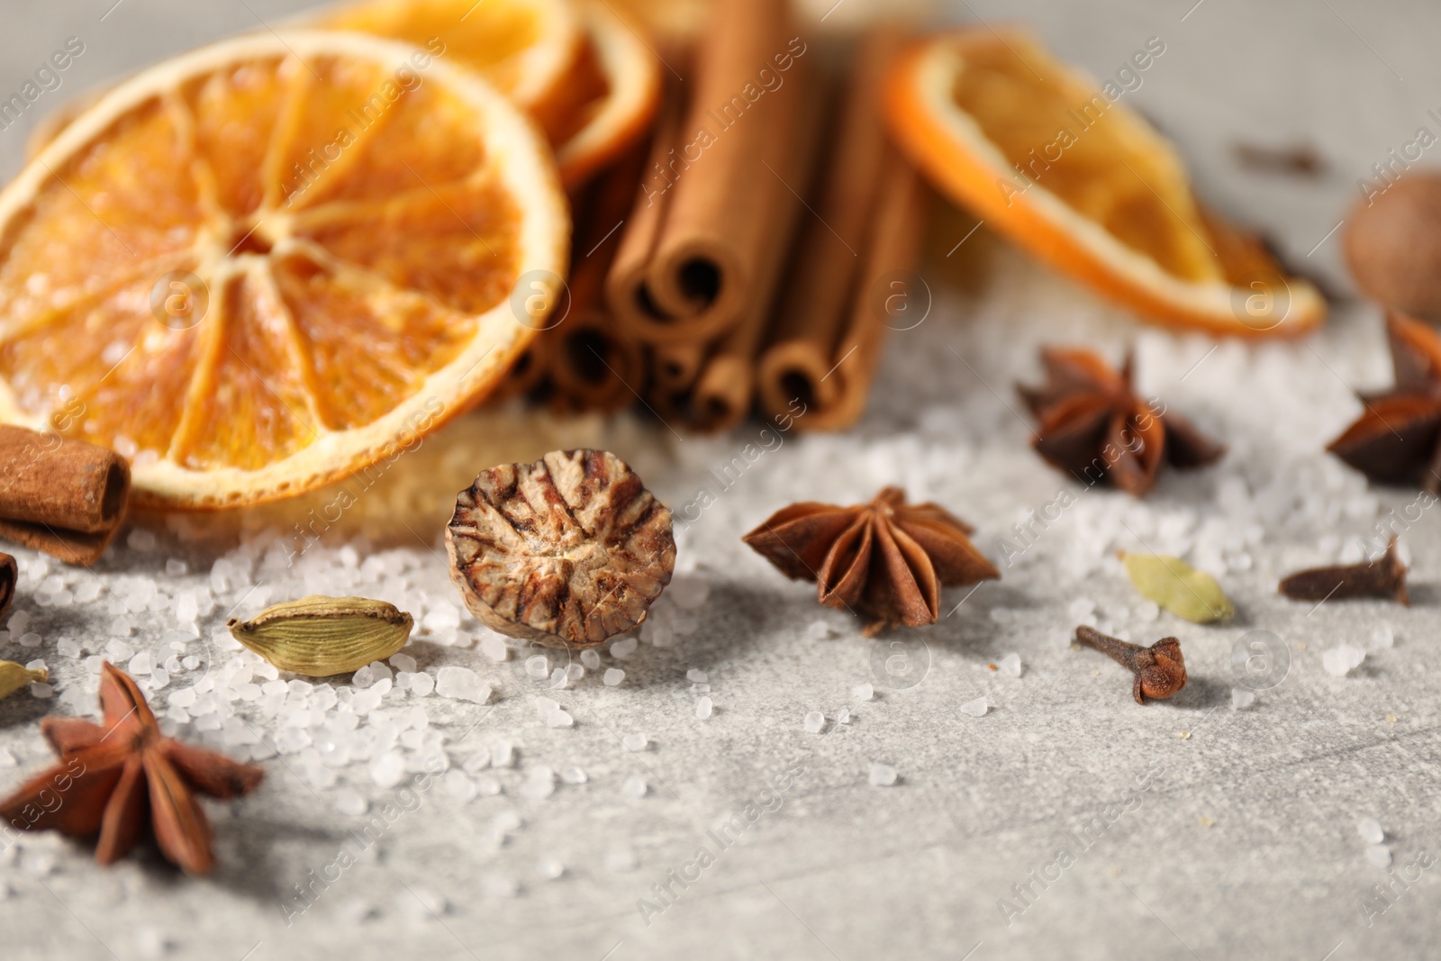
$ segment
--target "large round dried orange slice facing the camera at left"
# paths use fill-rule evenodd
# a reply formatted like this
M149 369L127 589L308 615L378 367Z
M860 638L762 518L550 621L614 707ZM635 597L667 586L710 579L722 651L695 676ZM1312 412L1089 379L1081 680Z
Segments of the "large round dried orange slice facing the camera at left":
M196 50L0 193L0 421L130 455L150 506L298 494L497 383L568 236L549 148L474 72L356 33Z

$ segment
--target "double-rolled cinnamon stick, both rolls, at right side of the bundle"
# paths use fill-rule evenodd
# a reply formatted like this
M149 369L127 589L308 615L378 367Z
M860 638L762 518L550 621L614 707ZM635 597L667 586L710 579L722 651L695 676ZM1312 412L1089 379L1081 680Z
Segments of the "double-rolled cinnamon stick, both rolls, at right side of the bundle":
M762 409L780 416L800 401L806 429L849 426L863 412L886 330L873 317L872 287L914 264L918 184L889 146L880 115L885 75L902 43L889 27L860 43L817 216L801 238L794 282L759 362Z

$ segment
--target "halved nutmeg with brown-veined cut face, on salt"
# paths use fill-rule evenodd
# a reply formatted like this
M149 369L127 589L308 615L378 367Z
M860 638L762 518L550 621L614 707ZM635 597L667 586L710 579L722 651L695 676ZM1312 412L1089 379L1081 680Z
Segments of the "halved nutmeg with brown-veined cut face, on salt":
M646 620L670 584L670 509L605 451L481 471L445 529L451 579L500 634L584 650Z

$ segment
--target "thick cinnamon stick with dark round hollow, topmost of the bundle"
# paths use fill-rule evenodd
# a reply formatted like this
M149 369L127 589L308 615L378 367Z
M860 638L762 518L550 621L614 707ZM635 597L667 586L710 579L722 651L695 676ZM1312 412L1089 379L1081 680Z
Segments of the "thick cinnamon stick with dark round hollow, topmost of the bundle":
M710 337L764 308L777 210L795 200L771 158L787 134L785 91L808 63L804 55L785 3L715 4L680 127L684 143L667 156L673 196L646 272L650 301L670 318L670 333L654 339Z

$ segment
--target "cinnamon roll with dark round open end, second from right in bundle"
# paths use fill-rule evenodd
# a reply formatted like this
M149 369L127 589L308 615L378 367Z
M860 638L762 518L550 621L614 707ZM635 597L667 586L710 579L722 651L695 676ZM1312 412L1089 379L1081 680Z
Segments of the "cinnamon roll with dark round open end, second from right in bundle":
M785 412L794 401L810 412L842 402L842 380L829 375L839 359L842 330L852 320L865 238L876 215L886 156L880 91L902 42L901 30L880 27L867 33L856 52L816 216L803 231L795 277L759 362L761 406L771 415Z

